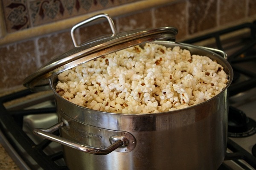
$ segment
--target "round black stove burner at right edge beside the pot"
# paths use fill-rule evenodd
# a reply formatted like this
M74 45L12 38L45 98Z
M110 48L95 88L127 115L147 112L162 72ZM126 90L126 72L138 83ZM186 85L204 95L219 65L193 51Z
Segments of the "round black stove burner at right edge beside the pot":
M237 108L229 107L228 136L248 137L256 133L256 122Z

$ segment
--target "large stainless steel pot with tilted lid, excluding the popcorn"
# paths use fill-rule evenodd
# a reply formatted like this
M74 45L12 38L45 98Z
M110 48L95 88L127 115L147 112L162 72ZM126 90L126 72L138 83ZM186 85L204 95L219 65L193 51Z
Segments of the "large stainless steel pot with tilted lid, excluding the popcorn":
M90 50L88 45L77 45L74 29L100 17L107 18L111 25L111 40L102 38L93 42L97 45L89 43ZM228 87L233 79L233 70L226 60L226 54L174 41L155 41L166 38L174 40L177 30L172 27L139 31L140 33L132 31L120 36L116 34L113 22L107 14L97 15L84 23L76 25L71 31L75 49L57 57L24 81L24 85L32 89L44 89L42 87L45 87L45 80L49 81L57 103L58 124L49 129L36 128L34 133L63 144L65 161L72 170L218 169L226 153ZM158 33L154 34L155 32ZM113 38L115 36L122 40L117 41ZM216 60L228 75L227 87L201 104L177 111L150 114L95 111L75 105L55 91L57 75L62 71L124 48L124 44L128 44L126 47L138 45L142 41L137 37L144 42L154 41L166 47L180 46L191 54ZM103 44L103 47L99 47L99 44ZM52 134L55 130L60 130L61 137Z

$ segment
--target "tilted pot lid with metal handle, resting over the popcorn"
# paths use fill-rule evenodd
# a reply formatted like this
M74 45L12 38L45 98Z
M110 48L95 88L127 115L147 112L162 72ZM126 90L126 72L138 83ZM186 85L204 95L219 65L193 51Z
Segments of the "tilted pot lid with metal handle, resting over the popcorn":
M105 18L108 20L112 34L78 45L75 39L75 30L80 26L99 18ZM134 45L155 40L175 41L177 28L160 27L117 32L113 20L108 14L98 14L73 26L70 34L75 48L53 58L47 64L38 68L38 70L33 74L26 77L23 81L23 85L25 87L30 88L33 91L49 90L49 78L51 76L60 74L63 71L76 67L77 65L84 64L85 62L89 62L98 57L102 57Z

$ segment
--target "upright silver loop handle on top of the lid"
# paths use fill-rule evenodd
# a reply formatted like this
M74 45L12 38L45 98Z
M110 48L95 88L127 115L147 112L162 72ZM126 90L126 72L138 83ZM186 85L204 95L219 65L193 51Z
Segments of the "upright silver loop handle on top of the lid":
M97 14L97 15L95 15L93 17L90 17L90 18L88 18L88 19L86 19L84 21L81 21L80 23L77 23L75 26L73 26L73 28L70 31L70 34L71 34L71 38L72 38L72 41L73 41L73 44L74 44L75 47L79 47L80 46L80 45L77 44L76 39L75 39L75 31L76 31L76 29L79 28L80 26L83 26L84 24L90 23L90 22L92 22L94 20L97 20L99 18L106 18L108 20L108 23L110 25L110 28L111 28L111 31L112 31L113 35L115 35L117 33L116 27L114 25L114 22L111 19L111 17L109 17L108 14Z

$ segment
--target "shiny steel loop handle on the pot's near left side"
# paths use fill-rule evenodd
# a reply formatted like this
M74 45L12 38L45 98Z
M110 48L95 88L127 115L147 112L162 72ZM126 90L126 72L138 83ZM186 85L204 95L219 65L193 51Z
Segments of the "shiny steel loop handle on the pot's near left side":
M44 137L45 139L49 139L53 142L57 142L63 145L66 145L68 147L72 147L76 150L80 150L85 153L90 153L90 154L96 154L96 155L106 155L108 153L111 153L112 151L116 150L120 146L124 146L125 144L128 144L128 139L126 139L123 136L116 136L112 137L113 143L106 147L106 148L96 148L96 147L91 147L91 146L86 146L79 144L77 142L73 142L69 139L65 139L60 136L56 136L52 134L52 132L58 130L59 128L64 127L64 122L58 122L57 124L53 125L52 127L49 127L48 129L41 129L41 128L35 128L33 132L41 137Z

